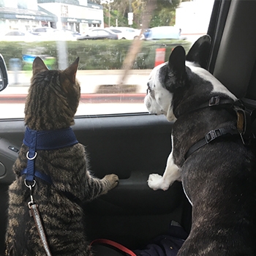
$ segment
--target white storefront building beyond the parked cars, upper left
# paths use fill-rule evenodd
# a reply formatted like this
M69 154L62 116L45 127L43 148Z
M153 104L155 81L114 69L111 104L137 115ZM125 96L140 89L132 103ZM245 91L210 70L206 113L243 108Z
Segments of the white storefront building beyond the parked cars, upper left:
M83 33L90 26L104 26L103 7L87 0L0 0L1 32L38 26Z

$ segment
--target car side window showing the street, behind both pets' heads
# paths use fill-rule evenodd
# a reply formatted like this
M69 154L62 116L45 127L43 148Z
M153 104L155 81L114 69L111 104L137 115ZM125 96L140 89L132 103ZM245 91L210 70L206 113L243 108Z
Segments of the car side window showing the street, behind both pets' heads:
M147 112L143 99L151 69L167 61L176 45L189 50L206 34L214 4L214 0L162 0L150 8L151 2L1 1L0 53L10 83L0 92L0 118L23 118L36 56L49 69L64 69L80 57L78 116ZM150 13L149 20L144 20L144 12ZM132 50L135 59L130 58ZM127 59L131 59L128 72Z

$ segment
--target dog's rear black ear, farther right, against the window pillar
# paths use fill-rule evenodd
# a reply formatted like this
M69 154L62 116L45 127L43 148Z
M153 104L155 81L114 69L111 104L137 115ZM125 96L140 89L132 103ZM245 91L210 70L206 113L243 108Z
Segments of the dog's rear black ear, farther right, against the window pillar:
M206 69L211 50L211 37L207 34L197 39L187 53L186 61L193 62Z

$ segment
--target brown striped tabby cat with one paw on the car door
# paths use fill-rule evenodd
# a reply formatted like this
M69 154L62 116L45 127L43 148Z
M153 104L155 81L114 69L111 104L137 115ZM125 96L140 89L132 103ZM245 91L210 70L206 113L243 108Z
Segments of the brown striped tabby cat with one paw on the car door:
M13 166L16 179L9 188L5 255L47 255L34 218L29 215L28 203L31 201L39 209L51 255L89 255L80 202L93 200L118 184L118 176L114 174L102 179L91 176L84 147L76 139L72 146L54 148L52 143L56 130L66 131L74 124L80 99L80 85L75 78L78 61L60 71L48 70L42 59L34 59L25 124L30 132L42 132L43 135L53 132L50 141L46 141L53 145L47 150L40 148L32 157L24 142L30 139L26 139L25 134ZM74 136L71 130L71 137ZM29 172L31 162L34 162L34 170L47 178L34 174L33 182L26 181L24 170Z

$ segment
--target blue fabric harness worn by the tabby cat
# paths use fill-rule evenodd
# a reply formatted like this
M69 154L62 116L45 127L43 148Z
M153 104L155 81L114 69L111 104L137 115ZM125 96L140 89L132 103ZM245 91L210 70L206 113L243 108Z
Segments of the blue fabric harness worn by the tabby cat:
M37 157L37 150L54 150L64 148L67 146L74 146L78 143L72 128L37 131L26 127L25 137L23 144L29 147L26 154L28 159L27 167L20 174L26 174L26 182L33 183L34 177L41 178L42 180L51 183L49 176L35 170L35 159Z

